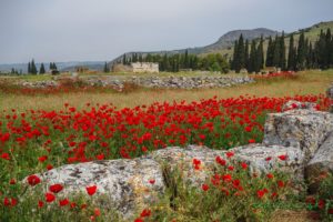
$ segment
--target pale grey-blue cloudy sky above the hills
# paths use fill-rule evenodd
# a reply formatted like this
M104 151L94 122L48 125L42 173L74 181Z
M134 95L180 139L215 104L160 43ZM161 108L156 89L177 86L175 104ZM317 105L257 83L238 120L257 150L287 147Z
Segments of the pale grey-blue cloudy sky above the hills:
M333 0L0 0L0 63L201 47L235 29L333 20L332 9Z

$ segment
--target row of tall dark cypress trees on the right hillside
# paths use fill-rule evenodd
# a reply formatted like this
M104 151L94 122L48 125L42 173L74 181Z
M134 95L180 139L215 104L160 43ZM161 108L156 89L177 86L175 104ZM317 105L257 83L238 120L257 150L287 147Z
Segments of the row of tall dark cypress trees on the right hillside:
M285 40L289 38L286 53ZM331 30L321 30L319 39L311 42L301 31L299 41L294 34L285 37L284 32L275 38L270 37L264 56L264 40L244 41L241 34L234 43L233 58L230 61L231 69L240 72L246 69L249 72L260 72L264 67L276 67L281 70L300 71L304 69L329 69L333 67L333 37Z

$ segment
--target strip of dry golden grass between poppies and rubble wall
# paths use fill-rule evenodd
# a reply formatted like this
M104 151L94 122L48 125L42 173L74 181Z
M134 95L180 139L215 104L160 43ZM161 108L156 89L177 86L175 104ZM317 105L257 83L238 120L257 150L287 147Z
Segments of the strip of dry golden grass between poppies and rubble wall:
M239 95L258 97L284 97L294 94L320 94L324 93L333 82L333 70L300 72L297 79L263 81L248 85L239 85L225 89L201 90L134 90L129 93L68 93L56 95L17 95L0 94L0 110L18 109L43 109L58 110L69 102L77 108L83 108L90 103L113 103L119 108L135 107L163 101L198 101L214 95L218 98L231 98Z

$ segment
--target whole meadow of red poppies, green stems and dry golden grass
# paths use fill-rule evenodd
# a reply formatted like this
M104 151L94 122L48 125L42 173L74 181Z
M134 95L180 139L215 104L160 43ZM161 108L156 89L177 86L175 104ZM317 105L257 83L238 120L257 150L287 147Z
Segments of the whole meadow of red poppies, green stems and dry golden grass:
M313 81L315 79L317 81ZM42 181L36 173L67 163L132 159L170 145L204 144L230 149L260 142L265 114L280 112L282 104L290 99L315 102L319 110L326 110L330 100L323 93L332 79L332 71L268 77L253 85L226 91L176 91L174 93L179 97L169 102L162 98L170 97L170 91L163 90L129 89L127 94L121 94L87 92L80 85L70 85L69 90L78 91L50 93L44 101L39 101L43 97L42 91L37 91L33 97L2 91L1 221L31 221L32 216L34 221L118 221L120 219L115 214L98 203L94 193L99 188L88 186L87 192L79 196L61 196L65 189L63 184L53 184L48 191L42 191ZM293 85L290 89L294 90L294 94L284 90L289 84ZM17 91L20 92L20 89ZM264 94L265 91L274 94ZM161 98L147 97L167 92ZM223 95L223 92L226 94ZM144 101L138 101L137 93L141 93L139 97L143 95ZM205 99L195 100L196 94L193 93ZM212 95L208 97L210 93ZM89 94L103 99L93 101ZM82 100L84 95L87 101ZM71 101L71 97L77 100ZM128 98L130 105L124 105L123 101L115 104L114 99L119 97ZM158 99L165 102L155 102ZM283 159L281 157L281 161ZM139 212L135 221L266 220L271 212L285 205L289 209L307 206L309 210L319 210L323 220L332 219L332 193L327 190L332 184L331 176L327 175L327 183L324 183L319 196L305 199L301 195L295 199L285 175L271 172L254 176L249 174L245 164L231 165L224 161L216 157L221 171L202 184L201 190L174 181L180 188L176 199L170 203L173 195L171 185L164 199ZM200 161L193 159L193 168L200 170ZM26 176L27 181L21 183Z

